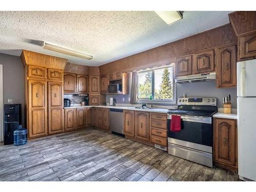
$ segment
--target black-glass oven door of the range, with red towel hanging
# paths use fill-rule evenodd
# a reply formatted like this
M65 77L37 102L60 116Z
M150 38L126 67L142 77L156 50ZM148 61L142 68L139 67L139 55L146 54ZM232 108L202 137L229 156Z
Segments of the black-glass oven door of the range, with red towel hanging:
M168 140L174 144L190 145L201 151L211 151L212 147L212 118L201 116L181 115L181 131L170 131L172 115L168 115ZM177 141L179 140L179 141ZM180 142L180 143L177 143ZM198 144L198 145L197 145ZM192 146L196 145L198 147ZM201 146L203 145L203 146ZM207 147L208 146L208 147ZM211 152L210 152L211 153Z

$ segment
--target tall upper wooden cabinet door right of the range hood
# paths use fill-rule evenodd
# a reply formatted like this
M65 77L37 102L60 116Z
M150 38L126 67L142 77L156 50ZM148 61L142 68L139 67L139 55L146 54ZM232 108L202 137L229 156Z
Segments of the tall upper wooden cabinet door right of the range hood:
M236 46L228 46L217 50L217 87L237 86Z

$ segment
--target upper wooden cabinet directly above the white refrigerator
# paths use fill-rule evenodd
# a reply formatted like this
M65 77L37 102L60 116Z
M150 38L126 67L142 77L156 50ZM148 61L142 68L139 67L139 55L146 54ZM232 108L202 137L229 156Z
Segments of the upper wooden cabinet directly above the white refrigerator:
M238 36L238 60L256 57L256 32Z

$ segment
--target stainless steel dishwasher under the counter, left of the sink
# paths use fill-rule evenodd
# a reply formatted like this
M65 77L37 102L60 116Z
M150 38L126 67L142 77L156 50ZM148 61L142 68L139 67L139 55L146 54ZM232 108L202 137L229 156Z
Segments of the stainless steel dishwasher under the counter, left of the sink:
M123 134L123 110L110 108L110 131Z

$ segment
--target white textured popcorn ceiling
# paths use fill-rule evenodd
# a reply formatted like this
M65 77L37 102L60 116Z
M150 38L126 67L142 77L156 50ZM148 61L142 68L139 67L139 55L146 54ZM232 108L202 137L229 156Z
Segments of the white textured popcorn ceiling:
M0 53L22 49L100 66L229 23L228 11L185 11L167 26L154 11L0 11ZM46 41L93 55L86 60L42 49Z

